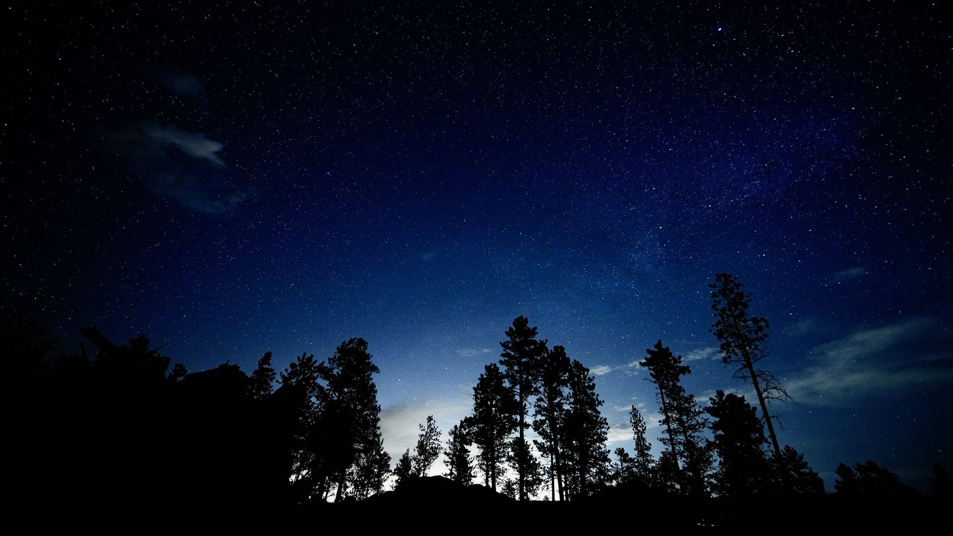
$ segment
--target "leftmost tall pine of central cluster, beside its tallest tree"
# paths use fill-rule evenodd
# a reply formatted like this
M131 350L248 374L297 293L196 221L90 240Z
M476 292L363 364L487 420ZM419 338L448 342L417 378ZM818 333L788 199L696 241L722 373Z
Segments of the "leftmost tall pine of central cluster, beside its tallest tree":
M496 363L488 364L474 387L474 412L464 419L484 483L497 489L497 476L509 452L508 438L517 428L517 400Z

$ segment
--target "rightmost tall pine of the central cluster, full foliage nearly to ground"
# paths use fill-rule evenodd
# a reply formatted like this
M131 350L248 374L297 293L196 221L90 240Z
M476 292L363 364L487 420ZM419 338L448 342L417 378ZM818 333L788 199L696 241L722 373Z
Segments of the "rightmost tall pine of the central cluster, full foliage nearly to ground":
M573 361L569 373L569 414L566 419L566 486L573 495L588 496L608 473L605 443L609 423L599 413L602 401L589 369Z

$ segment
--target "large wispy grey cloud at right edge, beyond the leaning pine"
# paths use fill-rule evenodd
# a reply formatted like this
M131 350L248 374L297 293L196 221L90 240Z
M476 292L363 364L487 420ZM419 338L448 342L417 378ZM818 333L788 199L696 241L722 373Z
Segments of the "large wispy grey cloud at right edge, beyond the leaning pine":
M827 404L857 401L926 382L951 381L953 351L911 360L907 350L897 349L903 342L929 338L938 324L933 319L906 320L822 344L813 352L818 364L785 381L788 393L799 402ZM945 363L935 366L927 361Z

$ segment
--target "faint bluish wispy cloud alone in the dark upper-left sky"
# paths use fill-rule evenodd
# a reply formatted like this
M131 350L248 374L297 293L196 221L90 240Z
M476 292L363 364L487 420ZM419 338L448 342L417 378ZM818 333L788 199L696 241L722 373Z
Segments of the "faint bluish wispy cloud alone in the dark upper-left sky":
M230 180L233 174L218 154L223 144L205 134L142 122L124 132L108 134L107 140L153 193L193 212L231 213L252 191Z

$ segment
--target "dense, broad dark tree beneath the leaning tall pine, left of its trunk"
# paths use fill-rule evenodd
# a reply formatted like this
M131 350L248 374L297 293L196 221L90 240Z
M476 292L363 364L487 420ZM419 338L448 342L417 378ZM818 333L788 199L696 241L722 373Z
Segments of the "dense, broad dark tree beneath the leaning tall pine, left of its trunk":
M711 415L714 445L719 455L716 489L734 497L760 493L771 483L771 466L764 456L764 428L754 406L744 397L717 391L705 413Z

